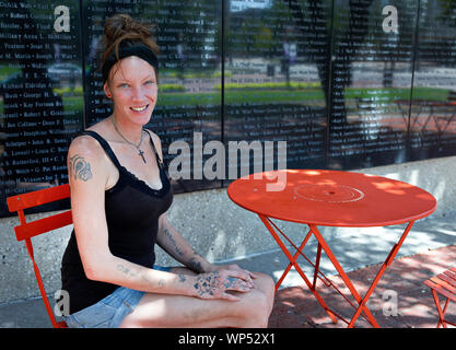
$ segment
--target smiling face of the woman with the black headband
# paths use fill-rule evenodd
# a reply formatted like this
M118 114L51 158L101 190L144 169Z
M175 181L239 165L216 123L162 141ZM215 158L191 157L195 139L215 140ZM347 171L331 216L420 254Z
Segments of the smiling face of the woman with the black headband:
M157 84L155 70L147 61L137 56L121 59L113 67L103 90L113 98L116 120L141 126L149 122Z

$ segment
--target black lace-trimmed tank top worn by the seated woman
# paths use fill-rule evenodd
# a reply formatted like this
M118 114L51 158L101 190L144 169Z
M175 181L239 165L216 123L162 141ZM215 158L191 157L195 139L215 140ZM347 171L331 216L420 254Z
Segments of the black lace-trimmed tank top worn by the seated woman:
M159 217L169 208L173 201L173 190L152 138L150 138L150 144L160 168L161 189L151 188L120 165L113 149L98 133L85 130L82 135L95 138L119 171L116 185L105 191L110 253L131 262L152 268L155 262L154 246ZM63 254L61 282L62 290L67 291L70 296L71 314L95 304L119 287L89 280L85 277L74 230Z

